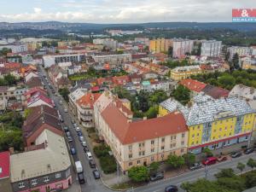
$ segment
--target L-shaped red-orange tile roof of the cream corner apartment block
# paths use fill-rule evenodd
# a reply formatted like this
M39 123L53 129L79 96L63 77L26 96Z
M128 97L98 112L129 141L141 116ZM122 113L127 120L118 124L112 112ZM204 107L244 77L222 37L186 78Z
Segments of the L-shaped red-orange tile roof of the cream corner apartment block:
M137 143L188 131L183 114L178 112L169 113L159 118L129 122L125 114L114 103L110 103L102 111L102 117L123 144Z

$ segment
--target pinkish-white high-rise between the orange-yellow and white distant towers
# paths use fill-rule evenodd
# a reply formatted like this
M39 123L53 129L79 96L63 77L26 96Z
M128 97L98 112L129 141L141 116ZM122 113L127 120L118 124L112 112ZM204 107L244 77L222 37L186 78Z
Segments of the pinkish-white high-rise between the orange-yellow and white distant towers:
M189 39L173 39L172 47L172 57L182 58L186 53L191 53L194 47L194 41Z

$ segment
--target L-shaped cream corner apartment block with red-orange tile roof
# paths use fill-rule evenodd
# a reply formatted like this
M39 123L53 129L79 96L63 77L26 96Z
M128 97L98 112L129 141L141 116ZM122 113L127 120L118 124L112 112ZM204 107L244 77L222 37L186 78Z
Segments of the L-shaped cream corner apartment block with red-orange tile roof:
M102 94L95 108L96 129L110 146L123 172L131 166L148 166L166 160L169 154L187 153L188 128L183 114L169 113L154 119L132 120L132 113L119 100ZM108 101L102 103L99 101ZM109 102L110 101L110 102Z

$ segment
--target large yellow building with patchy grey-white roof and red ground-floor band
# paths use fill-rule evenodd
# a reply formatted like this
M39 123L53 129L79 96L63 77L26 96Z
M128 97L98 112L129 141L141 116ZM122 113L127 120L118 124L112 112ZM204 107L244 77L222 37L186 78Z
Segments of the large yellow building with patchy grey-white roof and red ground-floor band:
M237 97L214 100L198 95L190 108L168 99L160 103L164 116L181 111L189 127L189 151L200 154L203 148L220 149L230 145L247 145L254 127L255 111L246 101ZM232 148L234 149L234 148Z

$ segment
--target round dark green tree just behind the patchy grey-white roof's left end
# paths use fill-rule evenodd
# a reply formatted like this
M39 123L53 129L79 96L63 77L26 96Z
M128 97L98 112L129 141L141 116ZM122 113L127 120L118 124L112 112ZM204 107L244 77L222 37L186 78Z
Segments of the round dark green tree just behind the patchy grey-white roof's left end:
M177 89L172 91L172 96L183 105L187 104L190 101L190 90L179 84Z

